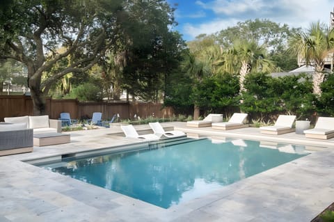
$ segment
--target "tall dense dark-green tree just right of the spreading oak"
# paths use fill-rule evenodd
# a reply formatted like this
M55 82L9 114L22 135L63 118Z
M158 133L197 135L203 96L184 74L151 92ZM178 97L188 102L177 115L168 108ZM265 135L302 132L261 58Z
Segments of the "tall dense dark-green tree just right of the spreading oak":
M122 46L127 65L122 70L122 88L130 95L157 102L184 48L181 35L170 31L175 25L174 9L166 1L134 1L128 10L132 16L124 21Z

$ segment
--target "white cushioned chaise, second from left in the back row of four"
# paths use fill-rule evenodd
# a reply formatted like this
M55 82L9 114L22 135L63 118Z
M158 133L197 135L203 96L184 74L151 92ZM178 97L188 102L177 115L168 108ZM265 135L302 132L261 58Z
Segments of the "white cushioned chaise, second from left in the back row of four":
M247 113L233 113L228 122L213 122L212 129L228 130L248 127L247 124L244 124L247 116Z

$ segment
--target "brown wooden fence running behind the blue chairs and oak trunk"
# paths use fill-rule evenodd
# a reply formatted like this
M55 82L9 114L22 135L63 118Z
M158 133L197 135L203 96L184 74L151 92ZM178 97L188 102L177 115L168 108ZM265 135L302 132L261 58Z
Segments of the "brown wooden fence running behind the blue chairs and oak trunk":
M4 117L33 115L33 101L25 95L0 95L0 121ZM133 119L134 116L147 118L170 118L174 111L163 104L144 102L78 102L77 100L46 100L46 113L52 119L58 119L60 113L70 113L71 118L91 118L93 112L102 112L103 120L110 120L119 114L120 119Z

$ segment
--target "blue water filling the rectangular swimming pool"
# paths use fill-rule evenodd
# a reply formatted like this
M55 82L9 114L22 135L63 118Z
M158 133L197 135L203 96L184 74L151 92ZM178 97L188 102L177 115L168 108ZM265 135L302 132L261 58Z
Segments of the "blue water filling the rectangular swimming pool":
M168 208L303 157L303 150L299 145L200 139L42 167Z

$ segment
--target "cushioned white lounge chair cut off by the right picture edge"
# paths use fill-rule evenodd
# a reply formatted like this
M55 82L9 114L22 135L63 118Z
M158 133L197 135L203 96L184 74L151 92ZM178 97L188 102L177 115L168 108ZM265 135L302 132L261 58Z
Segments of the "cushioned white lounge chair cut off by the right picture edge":
M305 129L304 134L307 138L328 139L334 137L334 118L319 117L315 128Z

